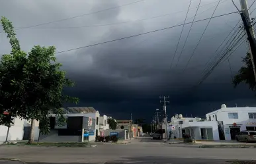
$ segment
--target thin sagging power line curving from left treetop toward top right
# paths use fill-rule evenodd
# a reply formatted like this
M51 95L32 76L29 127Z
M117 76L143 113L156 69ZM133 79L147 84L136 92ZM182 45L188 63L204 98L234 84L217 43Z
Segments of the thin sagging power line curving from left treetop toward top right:
M226 1L228 1L228 0L226 0ZM217 1L215 1L213 3L216 3L216 2ZM212 4L212 3L207 3L205 5L201 5L200 7L204 7L204 6L210 5L210 4ZM197 9L197 8L198 7L195 7L195 8L192 8L192 9ZM210 9L211 8L212 7L210 7ZM190 9L190 10L192 10L192 9ZM187 10L185 10L185 11L187 11ZM88 26L69 26L69 27L30 27L30 28L32 28L32 29L69 29L69 28L91 28L91 27L113 26L113 25L118 25L118 24L127 24L127 23L130 23L130 22L150 20L150 19L153 19L153 18L159 18L159 17L163 17L163 16L168 16L168 15L172 15L172 14L181 13L181 12L183 12L183 11L177 11L175 13L168 13L168 14L161 14L161 15L158 15L158 16L152 16L152 17L149 17L149 18L142 18L142 19L138 19L138 20L130 20L130 21L125 21L125 22L116 22L116 23L111 23L111 24L93 24L93 25L88 25Z

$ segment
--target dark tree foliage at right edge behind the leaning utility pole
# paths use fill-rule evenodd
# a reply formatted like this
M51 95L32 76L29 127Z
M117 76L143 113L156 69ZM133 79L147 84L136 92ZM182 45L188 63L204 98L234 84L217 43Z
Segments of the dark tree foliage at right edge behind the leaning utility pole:
M241 82L245 82L245 84L247 84L251 90L256 91L256 82L250 53L247 53L242 61L244 66L241 67L239 72L234 76L234 87L237 87Z

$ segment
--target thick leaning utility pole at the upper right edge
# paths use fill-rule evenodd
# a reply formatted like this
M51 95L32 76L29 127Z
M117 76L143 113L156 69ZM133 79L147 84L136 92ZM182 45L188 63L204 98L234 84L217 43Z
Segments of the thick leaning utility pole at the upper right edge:
M243 24L245 26L245 30L247 33L247 40L249 41L250 44L250 51L251 51L251 63L253 65L253 72L254 72L254 78L256 81L256 70L255 70L255 65L256 65L256 41L255 41L255 34L253 30L253 25L251 24L251 16L248 11L248 5L247 5L247 0L240 0L240 5L241 5L241 18L243 20Z

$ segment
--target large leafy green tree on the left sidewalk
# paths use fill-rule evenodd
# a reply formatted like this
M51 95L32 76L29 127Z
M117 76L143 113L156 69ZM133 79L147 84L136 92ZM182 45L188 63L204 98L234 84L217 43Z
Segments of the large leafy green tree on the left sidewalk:
M65 77L62 66L56 63L55 47L36 45L26 54L21 51L13 24L5 17L1 18L3 30L11 43L11 53L3 55L0 63L0 123L9 126L12 120L6 119L3 111L11 117L20 117L31 121L29 143L34 141L34 120L40 121L40 132L50 132L49 111L58 115L58 122L65 118L61 107L65 102L77 103L76 97L66 96L64 87L73 86Z

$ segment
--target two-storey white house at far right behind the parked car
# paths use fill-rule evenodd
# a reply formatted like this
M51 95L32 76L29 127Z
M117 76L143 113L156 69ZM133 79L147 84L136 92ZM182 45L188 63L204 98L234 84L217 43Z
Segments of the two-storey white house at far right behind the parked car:
M218 123L220 140L235 140L241 130L256 130L256 107L226 107L206 114L207 121Z

